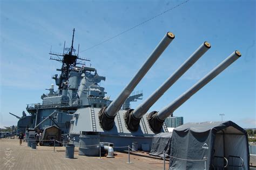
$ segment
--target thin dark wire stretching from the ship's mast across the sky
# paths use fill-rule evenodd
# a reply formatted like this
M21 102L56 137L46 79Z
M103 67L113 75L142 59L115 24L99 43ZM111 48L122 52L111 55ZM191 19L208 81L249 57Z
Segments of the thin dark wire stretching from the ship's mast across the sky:
M124 33L129 32L129 31L131 31L131 30L137 28L138 26L143 25L143 24L149 22L149 21L151 21L152 19L155 19L155 18L157 18L157 17L163 15L163 14L166 13L166 12L169 12L169 11L175 9L175 8L178 8L178 7L181 6L181 5L184 5L184 4L187 3L188 1L190 1L190 0L184 1L183 3L180 3L180 4L176 5L176 6L173 6L173 8L170 8L170 9L168 9L168 10L165 10L164 12L161 12L161 13L159 13L158 15L153 16L153 17L147 19L146 21L144 21L144 22L142 22L142 23L139 23L139 24L137 24L137 25L134 25L134 26L132 26L131 28L129 28L129 29L123 31L123 32L118 33L117 35L115 35L115 36L113 36L113 37L110 37L109 39L105 39L105 40L103 40L102 42L100 42L100 43L98 43L98 44L95 44L95 45L93 45L93 46L91 46L91 47L89 47L89 48L87 48L87 49L81 51L80 53L82 53L82 52L84 52L84 51L87 51L87 50L90 50L90 49L92 49L92 48L94 48L94 47L96 47L96 46L99 46L99 45L103 44L103 43L106 43L106 42L110 41L111 39L114 39L114 38L116 38L116 37L118 37L118 36L121 36L121 35L123 35Z

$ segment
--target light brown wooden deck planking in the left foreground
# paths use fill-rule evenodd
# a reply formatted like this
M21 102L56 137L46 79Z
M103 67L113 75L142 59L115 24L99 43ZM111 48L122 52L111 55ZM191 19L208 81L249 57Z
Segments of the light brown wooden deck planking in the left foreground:
M17 139L0 139L0 169L163 169L163 160L130 155L133 164L126 164L128 154L115 152L115 158L98 159L78 155L75 149L75 159L65 158L65 147L37 146L37 149L27 147L23 142L19 145ZM166 169L169 162L166 162Z

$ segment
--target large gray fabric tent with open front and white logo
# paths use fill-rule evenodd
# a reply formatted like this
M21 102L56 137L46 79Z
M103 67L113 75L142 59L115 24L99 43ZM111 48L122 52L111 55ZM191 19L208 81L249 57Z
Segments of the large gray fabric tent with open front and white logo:
M204 169L205 163L206 169L249 169L247 133L232 121L187 123L175 128L170 155L170 169ZM206 162L194 161L204 157Z

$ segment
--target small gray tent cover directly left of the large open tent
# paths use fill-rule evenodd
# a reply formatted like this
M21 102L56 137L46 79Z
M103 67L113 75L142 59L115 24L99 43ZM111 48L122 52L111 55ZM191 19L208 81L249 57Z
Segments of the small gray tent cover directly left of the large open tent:
M158 133L154 135L150 155L164 157L164 151L166 154L170 154L171 138L172 132Z

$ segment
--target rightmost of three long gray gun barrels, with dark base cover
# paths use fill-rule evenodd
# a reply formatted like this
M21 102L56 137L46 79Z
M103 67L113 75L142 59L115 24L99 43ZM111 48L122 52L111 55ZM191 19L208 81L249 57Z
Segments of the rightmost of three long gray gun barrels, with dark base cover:
M204 78L198 81L195 85L193 85L190 89L188 89L185 93L181 94L176 100L174 100L171 104L164 107L159 112L151 112L147 117L147 121L151 127L151 130L154 132L160 132L164 120L172 115L172 113L185 101L187 101L193 94L198 92L202 87L204 87L207 83L209 83L213 78L218 76L219 73L224 71L228 66L230 66L235 60L241 57L241 53L239 51L234 51L230 56L228 56L223 62L221 62L217 67L215 67L210 73L206 74Z

